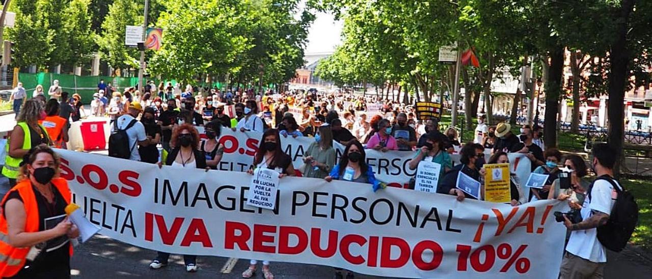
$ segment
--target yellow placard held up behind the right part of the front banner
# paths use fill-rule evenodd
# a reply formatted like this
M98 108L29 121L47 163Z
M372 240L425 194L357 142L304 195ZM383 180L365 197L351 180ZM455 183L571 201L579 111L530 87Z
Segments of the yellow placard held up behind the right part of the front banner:
M484 200L509 203L512 200L509 187L509 164L484 164Z

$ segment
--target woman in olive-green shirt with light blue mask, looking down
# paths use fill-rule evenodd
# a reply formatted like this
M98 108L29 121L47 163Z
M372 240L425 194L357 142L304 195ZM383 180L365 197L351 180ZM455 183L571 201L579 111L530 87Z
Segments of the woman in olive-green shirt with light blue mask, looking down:
M304 177L324 178L331 172L335 164L336 154L333 148L333 132L330 125L319 126L318 133L315 135L315 142L310 144L304 155Z

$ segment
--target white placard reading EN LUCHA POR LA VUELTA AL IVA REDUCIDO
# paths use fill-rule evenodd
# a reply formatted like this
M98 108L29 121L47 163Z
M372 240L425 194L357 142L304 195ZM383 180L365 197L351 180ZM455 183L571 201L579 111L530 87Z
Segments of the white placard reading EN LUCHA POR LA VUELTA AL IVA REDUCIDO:
M278 171L274 169L256 168L254 177L249 184L246 204L263 209L274 209L278 190L278 175Z

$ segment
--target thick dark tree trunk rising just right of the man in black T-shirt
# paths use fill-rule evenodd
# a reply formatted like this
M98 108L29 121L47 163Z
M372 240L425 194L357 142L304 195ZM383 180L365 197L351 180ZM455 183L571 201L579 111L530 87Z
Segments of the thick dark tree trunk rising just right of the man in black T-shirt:
M564 48L556 46L550 50L550 68L546 83L546 113L544 115L543 138L546 149L557 147L557 113L559 112L559 94L564 68Z

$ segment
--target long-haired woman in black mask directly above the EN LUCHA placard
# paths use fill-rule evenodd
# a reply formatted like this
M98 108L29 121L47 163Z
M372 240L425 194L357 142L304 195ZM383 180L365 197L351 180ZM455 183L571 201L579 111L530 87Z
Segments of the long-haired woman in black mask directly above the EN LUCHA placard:
M295 170L292 166L292 158L281 149L281 138L278 130L269 129L263 133L260 139L258 151L254 156L254 165L247 173L253 175L256 168L274 169L279 173L278 177L294 176ZM251 259L249 267L243 272L243 278L251 278L256 274L256 265L258 260ZM269 269L269 261L263 261L263 277L265 279L274 279L274 274Z

